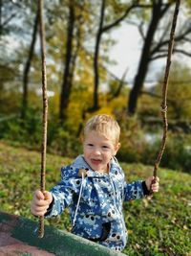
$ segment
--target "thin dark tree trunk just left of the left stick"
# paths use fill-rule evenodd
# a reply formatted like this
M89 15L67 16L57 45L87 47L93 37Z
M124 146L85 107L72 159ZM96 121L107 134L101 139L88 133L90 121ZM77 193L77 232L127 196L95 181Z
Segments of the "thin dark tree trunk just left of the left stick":
M30 46L29 57L26 61L24 73L23 73L23 96L22 96L22 106L21 106L21 117L23 119L26 116L26 110L28 108L29 75L30 75L32 57L33 57L34 46L35 46L36 35L37 35L38 20L39 20L39 12L37 11L34 18L34 23L33 23L32 42Z

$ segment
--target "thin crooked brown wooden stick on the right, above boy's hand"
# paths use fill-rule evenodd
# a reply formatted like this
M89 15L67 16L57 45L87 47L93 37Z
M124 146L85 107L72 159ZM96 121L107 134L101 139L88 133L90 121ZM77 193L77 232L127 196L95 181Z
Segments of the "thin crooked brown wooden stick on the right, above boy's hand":
M166 137L167 137L167 129L168 129L168 122L167 122L167 105L166 105L166 99L167 99L167 88L168 88L168 78L170 73L170 66L171 66L171 56L173 53L173 47L174 47L174 40L175 40L175 29L177 25L177 19L179 15L179 9L180 9L180 0L176 1L174 16L173 16L173 22L171 27L171 33L170 33L170 40L168 45L168 56L166 60L166 68L165 68L165 74L164 74L164 80L162 85L162 101L161 101L161 116L163 120L163 136L161 140L161 145L159 148L159 154L157 156L155 166L154 166L154 183L156 181L156 177L158 175L158 168L159 163L163 154L163 151L165 149L166 145Z

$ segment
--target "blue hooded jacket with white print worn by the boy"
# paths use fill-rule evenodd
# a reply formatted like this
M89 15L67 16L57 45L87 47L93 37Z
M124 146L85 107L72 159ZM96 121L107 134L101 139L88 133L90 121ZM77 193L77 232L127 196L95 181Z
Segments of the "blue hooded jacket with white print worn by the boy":
M111 160L109 175L102 175L79 155L61 169L61 182L51 190L53 203L46 217L60 215L69 207L75 235L122 250L127 241L122 203L143 198L145 188L144 181L125 182L116 157Z

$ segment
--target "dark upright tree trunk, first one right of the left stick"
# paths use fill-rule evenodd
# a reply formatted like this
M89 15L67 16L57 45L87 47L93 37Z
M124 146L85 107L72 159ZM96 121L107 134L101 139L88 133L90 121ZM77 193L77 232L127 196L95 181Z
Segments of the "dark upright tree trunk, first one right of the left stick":
M73 60L73 40L74 40L74 1L70 1L69 7L69 20L68 20L68 31L67 31L67 45L66 45L66 61L63 75L63 82L60 96L60 109L59 118L60 121L64 121L66 117L65 110L69 104L69 98L71 94L72 81L71 78L71 64Z

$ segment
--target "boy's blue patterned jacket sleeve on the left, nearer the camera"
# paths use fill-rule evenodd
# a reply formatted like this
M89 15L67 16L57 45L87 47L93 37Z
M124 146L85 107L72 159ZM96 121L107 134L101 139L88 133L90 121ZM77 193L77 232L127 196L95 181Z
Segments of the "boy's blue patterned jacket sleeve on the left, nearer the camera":
M72 202L74 195L79 193L81 178L69 175L69 167L62 168L61 181L51 189L53 203L50 205L45 217L60 215Z

